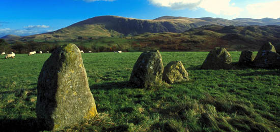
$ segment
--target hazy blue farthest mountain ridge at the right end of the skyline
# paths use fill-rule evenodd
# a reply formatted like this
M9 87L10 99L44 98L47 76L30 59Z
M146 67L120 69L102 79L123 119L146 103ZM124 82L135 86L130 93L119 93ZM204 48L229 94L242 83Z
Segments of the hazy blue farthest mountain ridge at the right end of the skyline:
M234 22L242 22L248 25L280 25L280 19L263 18L263 19L251 19L251 18L237 18L233 19Z

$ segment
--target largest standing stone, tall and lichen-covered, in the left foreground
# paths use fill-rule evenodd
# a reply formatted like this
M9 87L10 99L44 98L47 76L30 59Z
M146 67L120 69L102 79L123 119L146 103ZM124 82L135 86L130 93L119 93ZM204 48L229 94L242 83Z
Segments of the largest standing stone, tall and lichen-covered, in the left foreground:
M38 78L36 114L46 130L60 130L97 115L76 45L55 49L45 61Z

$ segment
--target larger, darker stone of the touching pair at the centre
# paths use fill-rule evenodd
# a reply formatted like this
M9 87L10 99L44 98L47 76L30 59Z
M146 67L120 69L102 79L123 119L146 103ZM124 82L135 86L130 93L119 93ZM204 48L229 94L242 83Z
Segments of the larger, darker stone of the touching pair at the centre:
M134 64L130 83L138 88L161 85L163 64L158 50L143 52Z

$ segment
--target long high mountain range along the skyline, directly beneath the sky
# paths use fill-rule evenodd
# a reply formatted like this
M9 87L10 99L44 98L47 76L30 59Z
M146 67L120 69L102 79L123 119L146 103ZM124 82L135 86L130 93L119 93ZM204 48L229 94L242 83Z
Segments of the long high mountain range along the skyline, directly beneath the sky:
M98 37L130 37L141 35L145 32L174 32L180 33L191 28L198 28L204 25L219 25L219 26L246 26L265 25L266 23L278 24L277 19L249 19L238 18L227 20L222 18L187 18L163 16L154 20L125 18L119 16L98 16L87 20L74 23L68 27L47 32L40 35L17 37L6 39L8 42L13 41L73 41L73 40L88 40ZM257 24L256 24L257 23Z

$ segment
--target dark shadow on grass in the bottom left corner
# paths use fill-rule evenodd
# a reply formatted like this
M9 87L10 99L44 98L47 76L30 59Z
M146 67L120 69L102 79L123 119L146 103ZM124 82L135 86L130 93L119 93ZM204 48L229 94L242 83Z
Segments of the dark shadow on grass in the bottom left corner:
M36 118L0 119L0 131L42 131L38 128Z

